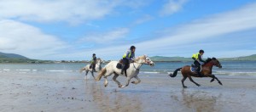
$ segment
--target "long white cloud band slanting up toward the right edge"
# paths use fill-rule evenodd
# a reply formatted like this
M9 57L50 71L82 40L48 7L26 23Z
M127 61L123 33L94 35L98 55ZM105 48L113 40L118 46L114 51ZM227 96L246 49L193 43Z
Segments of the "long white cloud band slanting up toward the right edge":
M148 55L163 54L177 56L177 54L181 54L179 56L188 56L186 53L192 54L197 52L198 48L206 45L214 48L215 53L217 53L220 49L223 49L220 44L216 44L216 46L212 44L215 43L214 39L218 36L227 35L224 38L230 41L226 41L226 45L234 46L236 42L233 42L234 39L232 39L230 34L256 28L256 13L254 13L254 10L256 10L256 3L223 14L215 14L207 18L194 20L186 25L179 25L175 28L167 29L163 31L164 36L156 36L153 40L144 39L143 42L137 42L133 45L137 47L138 55L145 53ZM243 38L250 39L252 36L243 36ZM201 42L206 42L207 44L202 44ZM130 46L123 44L109 48L97 48L94 50L94 53L104 53L105 56L113 58L115 55L125 52ZM197 48L195 51L191 51L195 48ZM226 51L226 55L228 55L229 51L230 49ZM255 52L255 49L253 51Z

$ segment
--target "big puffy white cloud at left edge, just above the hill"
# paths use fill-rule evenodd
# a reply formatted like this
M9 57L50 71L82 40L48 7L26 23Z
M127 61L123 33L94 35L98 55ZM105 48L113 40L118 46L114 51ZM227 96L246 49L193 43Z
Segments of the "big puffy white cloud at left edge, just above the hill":
M32 59L58 53L67 44L55 36L44 34L38 28L15 20L0 20L0 50L24 54Z

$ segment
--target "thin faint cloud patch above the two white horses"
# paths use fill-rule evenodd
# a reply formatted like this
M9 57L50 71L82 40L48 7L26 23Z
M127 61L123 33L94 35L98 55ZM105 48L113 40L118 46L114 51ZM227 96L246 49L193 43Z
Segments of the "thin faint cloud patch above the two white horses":
M96 42L96 43L106 43L106 42L113 42L117 39L125 37L125 35L129 32L127 28L119 28L114 29L113 31L108 32L95 32L90 33L87 36L84 36L79 40L79 42Z

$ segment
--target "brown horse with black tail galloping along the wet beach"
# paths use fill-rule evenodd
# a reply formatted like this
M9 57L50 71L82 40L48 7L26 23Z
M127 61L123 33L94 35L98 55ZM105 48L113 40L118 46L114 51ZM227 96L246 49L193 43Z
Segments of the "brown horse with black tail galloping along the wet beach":
M222 83L218 80L218 78L216 76L212 75L212 66L213 65L217 66L218 68L222 68L222 65L219 63L218 59L215 59L215 58L210 59L210 58L208 58L206 60L206 63L201 66L201 68L202 68L201 75L203 75L203 77L212 77L211 82L214 81L214 79L216 79L218 81L218 83L220 85L222 85ZM183 66L183 68L178 68L177 70L175 70L173 72L173 74L170 74L169 76L171 76L171 77L177 76L177 71L178 70L181 70L181 73L183 75L182 83L187 79L187 77L189 77L190 81L194 82L196 86L200 87L200 84L196 83L191 78L191 76L195 76L195 77L200 77L200 76L198 76L198 74L196 74L195 72L192 72L190 70L190 66L189 65ZM186 87L186 86L184 86L184 83L183 83L183 87Z

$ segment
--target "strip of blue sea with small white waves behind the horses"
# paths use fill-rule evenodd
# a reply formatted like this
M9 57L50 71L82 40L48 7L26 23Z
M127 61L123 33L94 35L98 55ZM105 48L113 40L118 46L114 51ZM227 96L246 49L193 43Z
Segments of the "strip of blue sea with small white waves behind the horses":
M192 62L156 62L153 67L144 64L142 73L146 74L168 74L184 65ZM223 68L213 67L212 74L219 76L256 76L256 61L223 61ZM102 64L102 67L105 64ZM82 63L59 63L59 64L0 64L0 73L15 74L79 74L84 67Z

